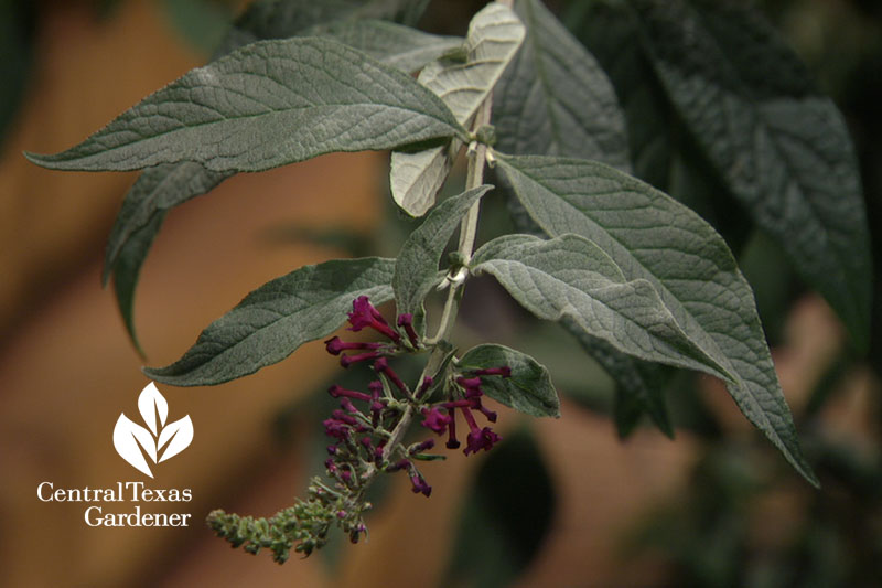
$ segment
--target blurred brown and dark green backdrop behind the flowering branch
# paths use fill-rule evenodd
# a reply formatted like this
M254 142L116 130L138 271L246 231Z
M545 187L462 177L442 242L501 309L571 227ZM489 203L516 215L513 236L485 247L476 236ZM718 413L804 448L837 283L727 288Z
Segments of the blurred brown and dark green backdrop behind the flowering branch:
M563 395L562 418L501 409L505 441L427 467L429 500L389 477L377 488L368 542L333 542L278 566L229 549L202 524L215 507L269 516L320 471L322 391L353 377L321 344L222 386L160 386L169 418L190 415L195 438L148 487L190 488L193 501L142 509L190 512L190 527L89 527L85 504L37 500L43 481L107 488L142 480L111 442L119 414L137 411L142 365L176 360L265 281L332 257L395 255L415 226L389 203L383 153L236 177L169 215L136 296L147 356L138 355L99 279L105 239L135 175L46 171L21 152L67 148L201 65L245 3L0 0L0 584L882 585L879 338L869 356L857 355L827 306L759 234L741 263L819 492L711 378L684 374L671 384L676 440L649 426L620 440L603 372L567 333L530 322L476 280L458 338L506 343L545 363ZM568 22L576 3L549 6ZM482 4L435 0L421 24L461 34ZM761 6L848 119L878 267L882 6ZM483 229L504 227L504 206L487 203ZM874 333L880 291L876 285Z

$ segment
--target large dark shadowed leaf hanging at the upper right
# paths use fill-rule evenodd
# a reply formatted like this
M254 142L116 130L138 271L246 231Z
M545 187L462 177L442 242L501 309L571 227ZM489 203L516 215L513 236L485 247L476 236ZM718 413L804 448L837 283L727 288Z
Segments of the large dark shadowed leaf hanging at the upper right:
M750 8L633 3L655 70L710 162L865 349L867 214L851 140L833 103Z

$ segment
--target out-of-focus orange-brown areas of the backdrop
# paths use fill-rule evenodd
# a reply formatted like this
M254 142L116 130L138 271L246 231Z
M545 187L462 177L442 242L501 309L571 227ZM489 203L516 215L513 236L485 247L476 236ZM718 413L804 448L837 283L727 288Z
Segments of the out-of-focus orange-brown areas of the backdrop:
M136 416L137 395L147 384L140 373L144 362L164 365L178 359L201 329L268 279L347 255L345 247L268 235L306 226L370 238L386 222L388 205L386 157L368 153L237 177L211 197L175 209L144 265L136 297L147 360L139 357L111 290L99 282L104 242L135 177L51 172L31 165L21 152L54 152L78 142L200 65L205 52L180 34L180 14L174 17L170 2L98 4L42 2L39 10L26 10L24 20L32 19L25 28L32 34L26 85L2 139L0 585L443 585L465 496L484 456L452 456L427 468L433 485L429 500L411 494L404 479L392 480L368 520L369 541L340 546L332 558L294 557L278 566L266 555L229 549L202 523L215 507L269 516L302 494L316 473L310 447L320 420L290 415L338 370L321 345L306 345L230 384L160 386L170 419L190 415L195 438L185 452L158 467L154 481L114 451L117 417L121 411ZM203 41L211 43L211 35ZM800 297L785 324L774 353L798 411L845 343L835 318L810 295ZM851 370L847 383L822 417L836 435L870 443L878 434L868 416L878 405L878 384L865 367ZM753 439L713 382L703 382L701 389L729 436ZM516 585L664 585L671 569L668 559L652 549L635 555L623 545L659 505L689 495L691 472L704 456L701 443L689 432L670 442L649 428L623 443L607 418L581 404L564 399L562 414L558 421L530 425L556 502L548 532L537 539L538 549L524 562ZM284 415L297 426L279 435ZM510 432L520 419L505 411L501 421ZM93 528L83 521L86 504L43 503L36 496L42 481L56 488L106 488L128 480L192 489L192 502L170 504L166 511L190 512L193 524ZM784 542L782 527L798 521L794 511L808 494L792 482L751 506L757 536ZM106 504L105 510L128 512L131 506ZM162 506L142 504L148 512Z

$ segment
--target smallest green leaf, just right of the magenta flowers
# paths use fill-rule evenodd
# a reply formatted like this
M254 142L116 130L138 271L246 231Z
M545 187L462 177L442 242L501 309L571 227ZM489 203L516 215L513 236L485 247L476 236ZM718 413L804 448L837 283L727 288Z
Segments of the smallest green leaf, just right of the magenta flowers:
M458 368L469 372L505 365L512 370L509 377L481 376L484 394L535 417L560 416L560 400L548 370L525 353L503 345L477 345L465 352Z

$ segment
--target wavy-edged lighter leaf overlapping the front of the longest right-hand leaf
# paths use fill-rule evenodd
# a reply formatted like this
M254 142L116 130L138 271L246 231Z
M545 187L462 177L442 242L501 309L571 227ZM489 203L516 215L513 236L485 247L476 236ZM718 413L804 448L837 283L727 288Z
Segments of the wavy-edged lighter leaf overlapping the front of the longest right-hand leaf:
M472 271L491 274L540 319L572 321L628 355L735 377L679 327L648 280L626 280L613 259L582 236L499 237L475 253Z

